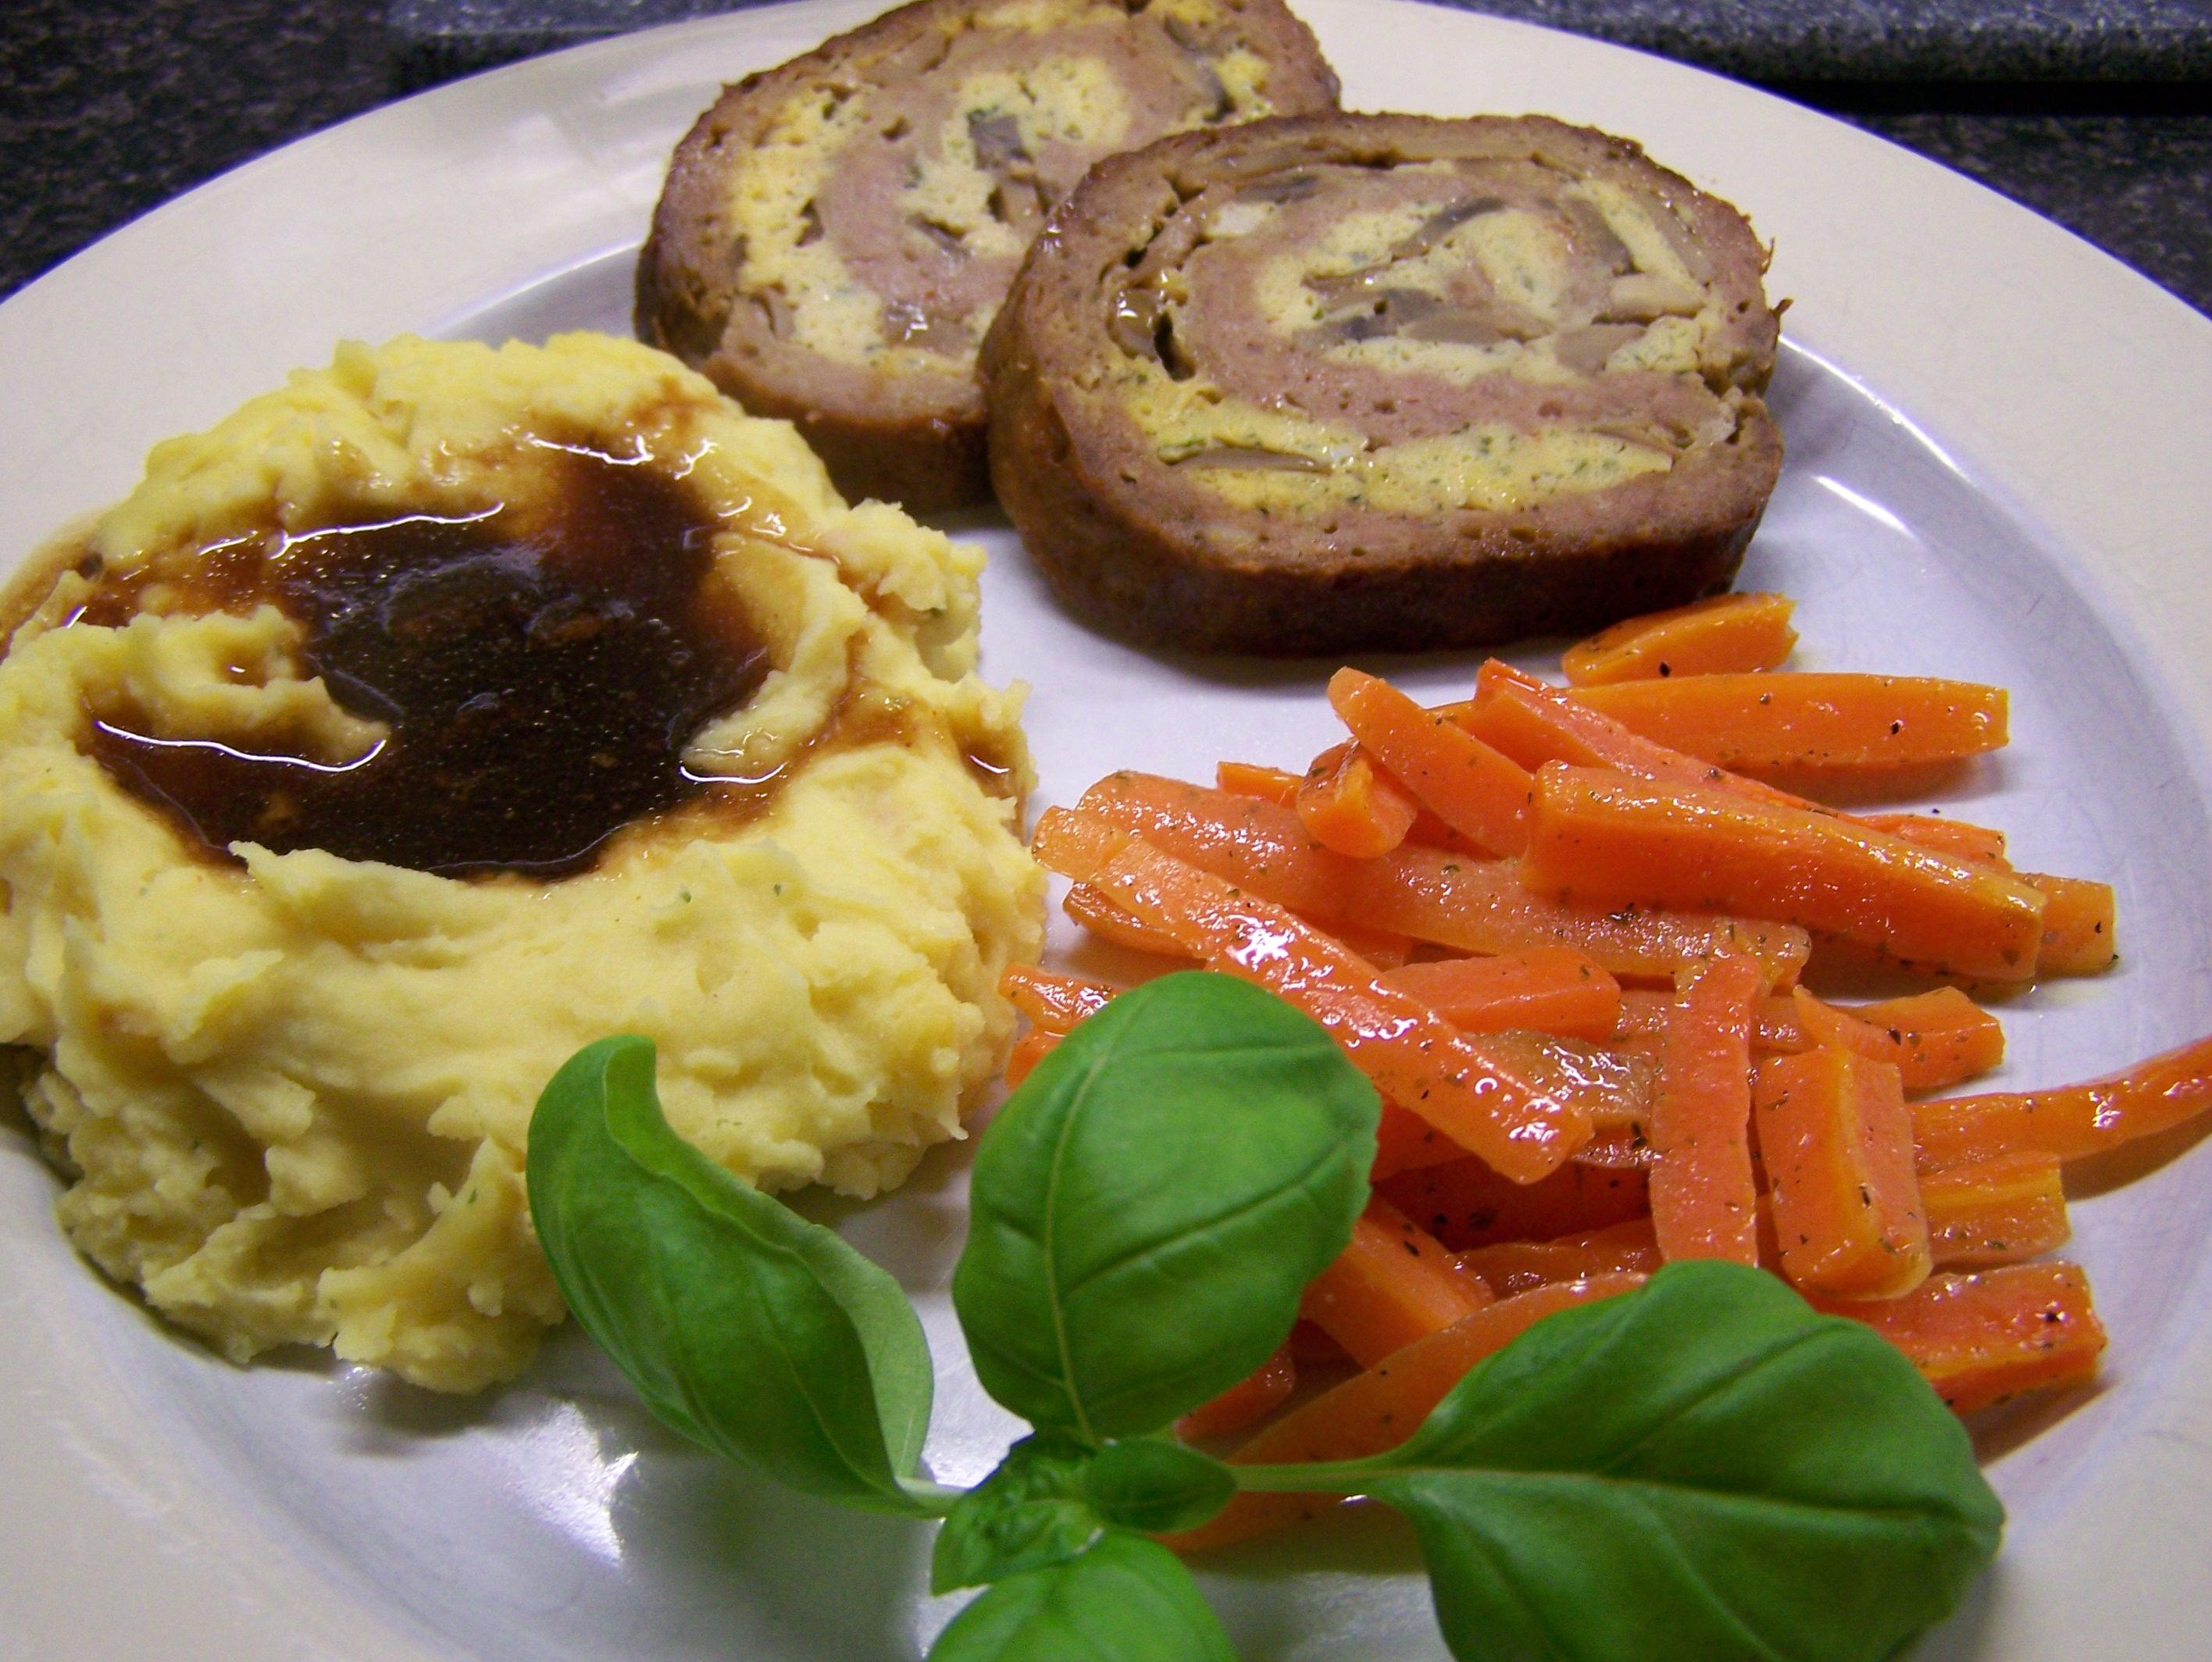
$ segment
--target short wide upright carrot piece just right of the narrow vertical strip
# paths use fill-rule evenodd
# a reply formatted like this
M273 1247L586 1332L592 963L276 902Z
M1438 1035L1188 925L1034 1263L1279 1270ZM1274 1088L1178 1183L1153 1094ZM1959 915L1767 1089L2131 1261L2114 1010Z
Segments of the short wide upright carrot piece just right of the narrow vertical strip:
M1752 1111L1783 1275L1836 1299L1920 1286L1929 1226L1898 1071L1825 1047L1776 1056L1759 1064Z

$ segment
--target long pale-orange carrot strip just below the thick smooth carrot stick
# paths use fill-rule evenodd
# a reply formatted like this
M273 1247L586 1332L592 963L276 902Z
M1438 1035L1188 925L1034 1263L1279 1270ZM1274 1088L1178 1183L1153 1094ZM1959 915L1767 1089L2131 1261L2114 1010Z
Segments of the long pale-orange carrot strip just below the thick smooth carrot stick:
M1714 952L1750 952L1776 985L1796 980L1807 936L1787 925L1646 907L1562 905L1531 894L1517 861L1405 845L1378 861L1316 848L1298 817L1155 775L1108 775L1084 810L1325 927L1396 929L1460 952L1559 945L1615 976L1672 974Z

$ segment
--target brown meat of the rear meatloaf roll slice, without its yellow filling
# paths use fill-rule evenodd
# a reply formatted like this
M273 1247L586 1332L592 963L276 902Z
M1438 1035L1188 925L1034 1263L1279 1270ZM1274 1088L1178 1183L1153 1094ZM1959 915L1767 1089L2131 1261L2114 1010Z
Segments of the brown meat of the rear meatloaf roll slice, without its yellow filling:
M1144 144L1188 122L1243 120L1252 91L1239 77L1225 86L1223 58L1259 60L1265 71L1265 111L1307 113L1336 108L1336 75L1312 33L1281 0L1221 0L1219 22L1186 24L1144 0L1060 0L1068 13L1066 38L1077 51L1097 51L1128 91L1128 124L1117 142L1048 142L1022 137L1009 117L969 117L973 157L998 175L993 219L1011 235L949 235L942 226L907 226L920 241L887 246L900 230L883 215L883 181L896 190L918 177L918 166L942 159L931 146L933 117L951 108L962 73L1022 69L1024 46L991 40L978 20L1006 0L918 0L863 29L823 42L812 53L748 75L692 126L675 150L653 235L637 261L637 334L706 372L723 392L763 416L794 420L830 467L847 498L878 496L916 511L989 500L984 463L984 405L975 378L982 325L1004 294L1022 248L1044 224L1044 212L1115 144ZM1053 35L1033 38L1035 60ZM1232 66L1232 75L1234 75ZM858 108L865 100L880 120L852 137L841 164L863 170L867 184L830 186L821 201L794 212L810 217L810 232L843 252L849 241L856 268L900 290L887 305L885 332L896 343L931 347L942 363L900 354L889 365L858 363L810 350L792 339L792 305L781 292L748 292L748 246L732 221L732 177L754 153L794 97L818 95L830 108ZM1263 113L1263 111L1254 111ZM995 239L995 241L993 241ZM975 301L982 308L975 310Z

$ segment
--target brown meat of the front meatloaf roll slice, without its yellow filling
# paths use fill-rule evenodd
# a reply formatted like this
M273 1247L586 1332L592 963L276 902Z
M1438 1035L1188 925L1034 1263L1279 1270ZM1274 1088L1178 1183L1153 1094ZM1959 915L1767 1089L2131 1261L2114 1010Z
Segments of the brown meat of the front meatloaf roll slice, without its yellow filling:
M1376 381L1365 370L1338 370L1332 381L1329 365L1316 370L1318 356L1290 352L1283 336L1261 341L1261 319L1228 303L1237 297L1221 290L1239 283L1250 290L1252 261L1217 257L1203 266L1188 257L1206 246L1208 224L1221 224L1208 215L1234 197L1285 201L1312 195L1305 179L1332 166L1383 181L1398 164L1440 159L1480 164L1475 184L1462 188L1489 190L1498 175L1486 168L1498 157L1511 166L1535 159L1562 179L1615 179L1677 217L1683 232L1677 248L1710 274L1705 290L1719 297L1719 330L1708 336L1694 374L1604 372L1586 376L1584 387L1551 389L1506 374L1462 387L1422 374ZM1296 181L1296 190L1285 193L1285 181ZM1442 186L1422 179L1418 188ZM1484 195L1473 210L1491 206L1495 197ZM1338 208L1316 212L1340 224ZM1447 190L1447 208L1431 224L1467 217L1469 204L1451 206ZM1312 235L1314 228L1290 221L1265 252L1296 248L1298 237ZM1568 241L1575 237L1582 232ZM1601 279L1639 270L1604 226L1586 241L1604 243ZM1214 250L1221 246L1212 241ZM1394 252L1418 255L1427 246L1413 239ZM1152 297L1130 301L1130 285L1168 268L1179 272L1177 303L1168 308L1168 332L1150 350L1175 359L1170 374L1179 381L1241 385L1254 405L1338 427L1349 420L1369 443L1376 434L1387 443L1449 434L1484 416L1526 425L1537 420L1535 412L1568 409L1573 420L1579 401L1593 432L1639 438L1668 454L1670 467L1504 511L1332 505L1298 513L1230 502L1199 482L1188 463L1250 467L1281 458L1217 447L1179 458L1186 463L1179 467L1161 458L1157 436L1121 403L1128 383L1115 365L1144 354L1128 323L1157 316ZM1781 469L1781 434L1759 398L1776 343L1763 268L1765 250L1728 204L1650 164L1626 139L1548 120L1336 115L1170 137L1099 164L1031 248L982 354L993 485L1060 598L1141 644L1305 655L1588 631L1721 589L1743 558ZM1217 301L1210 334L1199 328L1208 316L1208 283ZM1365 294L1374 294L1371 312L1360 305L1345 312L1349 323L1318 325L1336 330L1325 341L1396 328L1391 297L1405 290ZM1489 312L1413 299L1427 310L1402 310L1425 316L1429 334L1420 339L1431 341L1502 339L1484 319L1498 323L1511 310L1495 297L1486 299ZM1334 292L1318 301L1332 303ZM1252 328L1223 332L1221 316ZM1597 334L1599 350L1639 334L1604 319L1595 328L1610 330ZM1557 356L1586 352L1588 339L1584 325L1559 343ZM1259 383L1276 387L1274 396L1261 396ZM1683 432L1679 423L1703 423L1703 432Z

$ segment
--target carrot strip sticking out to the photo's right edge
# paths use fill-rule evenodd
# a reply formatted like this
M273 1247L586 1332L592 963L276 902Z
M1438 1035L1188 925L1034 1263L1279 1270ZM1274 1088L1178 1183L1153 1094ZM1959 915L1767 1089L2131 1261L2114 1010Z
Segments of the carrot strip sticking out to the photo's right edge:
M2017 1149L2086 1160L2170 1131L2205 1109L2212 1109L2212 1038L2088 1084L1916 1102L1913 1142L1924 1166L1960 1166Z

